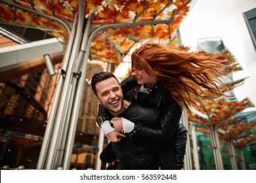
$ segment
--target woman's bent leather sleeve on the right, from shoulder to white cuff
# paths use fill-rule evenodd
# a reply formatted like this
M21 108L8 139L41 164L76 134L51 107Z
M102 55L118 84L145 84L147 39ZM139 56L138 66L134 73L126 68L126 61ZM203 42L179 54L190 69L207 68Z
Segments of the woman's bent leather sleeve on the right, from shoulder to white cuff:
M175 131L179 126L182 108L170 96L167 97L165 110L162 113L160 125L157 127L148 127L143 124L135 124L135 129L129 133L129 137L133 139L148 139L150 141L170 141L175 135Z

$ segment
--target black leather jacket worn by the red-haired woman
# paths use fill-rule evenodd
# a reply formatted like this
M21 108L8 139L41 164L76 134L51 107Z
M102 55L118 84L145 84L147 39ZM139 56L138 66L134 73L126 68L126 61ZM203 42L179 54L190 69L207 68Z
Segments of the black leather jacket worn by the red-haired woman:
M139 88L139 84L135 84L135 80L132 76L129 76L123 82L121 82L121 88L125 95L125 99L135 100L134 95ZM132 88L132 90L131 90ZM148 89L149 94L138 92L137 101L142 107L157 108L163 114L161 118L161 127L158 129L152 129L144 125L135 125L135 132L131 132L133 137L147 137L152 141L170 141L173 139L177 127L179 127L179 120L181 119L182 108L171 97L171 94L167 92L158 82L156 86ZM137 130L136 130L137 129Z

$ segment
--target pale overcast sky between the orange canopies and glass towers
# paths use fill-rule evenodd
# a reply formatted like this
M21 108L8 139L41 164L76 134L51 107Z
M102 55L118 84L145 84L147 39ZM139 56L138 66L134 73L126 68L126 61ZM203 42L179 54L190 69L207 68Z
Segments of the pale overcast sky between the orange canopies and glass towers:
M233 74L234 80L249 76L242 86L234 89L238 101L248 97L256 106L256 50L243 16L243 12L256 7L256 0L195 2L180 26L182 44L193 50L200 38L221 37L224 46L243 68ZM256 107L247 108L244 112L252 110Z

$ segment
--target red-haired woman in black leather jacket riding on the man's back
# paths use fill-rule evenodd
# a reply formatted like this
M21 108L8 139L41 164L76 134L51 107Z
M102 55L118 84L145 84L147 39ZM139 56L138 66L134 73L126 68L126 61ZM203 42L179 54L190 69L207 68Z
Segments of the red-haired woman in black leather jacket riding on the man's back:
M162 117L158 129L135 124L135 130L129 136L146 138L158 144L161 169L181 169L186 146L184 135L175 137L175 132L179 127L182 107L197 107L202 105L202 97L224 95L217 86L221 83L219 76L224 74L224 65L215 58L173 50L151 41L137 48L131 60L133 78L129 76L121 82L123 93L142 106L158 108ZM116 120L110 122L119 131L123 128ZM173 144L177 145L174 151Z

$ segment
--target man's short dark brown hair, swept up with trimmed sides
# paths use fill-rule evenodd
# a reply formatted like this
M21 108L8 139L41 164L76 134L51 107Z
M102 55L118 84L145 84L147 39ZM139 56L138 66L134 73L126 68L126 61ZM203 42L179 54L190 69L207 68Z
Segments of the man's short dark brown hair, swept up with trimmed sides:
M95 93L95 95L98 97L97 91L96 91L96 84L98 82L101 82L102 80L106 80L108 78L116 78L116 76L113 73L110 72L99 72L99 73L95 73L95 75L93 75L93 78L91 79L91 88L93 88L93 92ZM117 82L119 83L119 81L117 80Z

